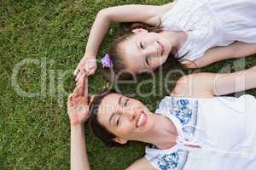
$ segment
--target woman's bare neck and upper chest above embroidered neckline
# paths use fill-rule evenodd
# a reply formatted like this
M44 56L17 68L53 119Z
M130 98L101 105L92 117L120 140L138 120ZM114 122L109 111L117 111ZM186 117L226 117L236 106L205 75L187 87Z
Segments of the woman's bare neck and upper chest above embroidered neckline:
M154 144L160 149L171 148L176 144L177 129L173 122L162 115L154 115L154 126L140 141Z

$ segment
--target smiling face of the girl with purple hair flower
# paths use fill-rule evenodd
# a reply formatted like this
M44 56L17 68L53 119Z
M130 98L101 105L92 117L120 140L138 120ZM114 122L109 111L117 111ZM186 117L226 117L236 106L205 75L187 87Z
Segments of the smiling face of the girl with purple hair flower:
M134 35L120 44L127 69L135 72L154 71L163 65L172 46L161 33L143 29L133 30Z

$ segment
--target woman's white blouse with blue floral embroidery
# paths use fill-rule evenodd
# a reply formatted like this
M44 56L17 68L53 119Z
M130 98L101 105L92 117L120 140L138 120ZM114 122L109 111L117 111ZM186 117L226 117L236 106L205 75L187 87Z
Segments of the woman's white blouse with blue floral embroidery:
M177 127L169 150L146 147L146 159L160 170L255 170L256 99L251 95L162 99L156 114ZM200 147L189 147L197 145Z

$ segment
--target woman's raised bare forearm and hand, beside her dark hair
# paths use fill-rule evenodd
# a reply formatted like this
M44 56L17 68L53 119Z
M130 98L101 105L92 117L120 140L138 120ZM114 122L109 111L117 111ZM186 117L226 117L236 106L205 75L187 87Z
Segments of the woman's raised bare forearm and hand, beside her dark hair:
M73 94L68 96L67 108L71 127L70 164L72 170L90 170L86 154L84 122L88 119L87 93L84 93L85 77L81 77Z

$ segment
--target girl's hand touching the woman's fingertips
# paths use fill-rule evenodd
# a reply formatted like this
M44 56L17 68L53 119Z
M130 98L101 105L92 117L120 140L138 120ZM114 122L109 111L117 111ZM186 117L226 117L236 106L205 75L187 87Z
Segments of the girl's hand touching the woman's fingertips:
M79 65L73 72L74 76L76 76L76 81L79 81L81 75L85 73L85 75L90 76L95 73L97 69L96 57L84 56L83 59L80 60Z

